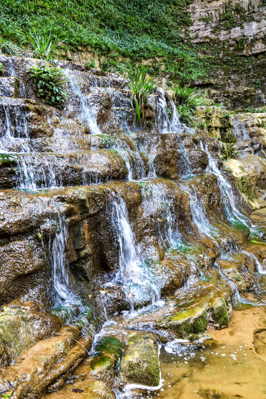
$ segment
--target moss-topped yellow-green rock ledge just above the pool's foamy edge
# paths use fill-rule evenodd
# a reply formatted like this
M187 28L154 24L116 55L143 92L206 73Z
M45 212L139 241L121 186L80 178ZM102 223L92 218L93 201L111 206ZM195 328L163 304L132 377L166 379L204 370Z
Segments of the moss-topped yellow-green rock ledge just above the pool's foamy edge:
M159 321L157 327L162 330L167 330L177 338L191 338L194 340L195 337L207 330L207 307L192 306L174 313Z

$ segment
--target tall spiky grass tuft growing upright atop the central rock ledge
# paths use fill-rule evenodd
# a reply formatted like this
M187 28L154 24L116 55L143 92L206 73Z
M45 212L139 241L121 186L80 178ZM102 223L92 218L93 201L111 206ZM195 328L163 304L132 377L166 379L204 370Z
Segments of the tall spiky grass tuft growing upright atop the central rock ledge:
M135 106L135 120L140 124L145 121L145 105L154 94L156 85L152 78L147 76L148 68L145 65L139 66L131 72L123 66L128 74L131 101Z

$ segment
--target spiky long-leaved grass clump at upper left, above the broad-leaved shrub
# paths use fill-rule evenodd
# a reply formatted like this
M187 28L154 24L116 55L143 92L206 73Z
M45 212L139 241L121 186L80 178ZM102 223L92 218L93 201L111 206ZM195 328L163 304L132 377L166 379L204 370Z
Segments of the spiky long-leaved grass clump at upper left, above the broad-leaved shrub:
M50 60L52 56L57 55L55 51L56 42L51 40L51 32L49 34L41 34L31 28L28 31L21 30L17 34L22 39L21 44L30 45L32 48L31 57Z

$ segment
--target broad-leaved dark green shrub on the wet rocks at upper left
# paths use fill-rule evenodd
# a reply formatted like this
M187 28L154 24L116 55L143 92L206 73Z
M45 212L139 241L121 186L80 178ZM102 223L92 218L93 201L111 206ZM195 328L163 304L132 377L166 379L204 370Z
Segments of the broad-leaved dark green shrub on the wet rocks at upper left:
M64 77L64 70L42 64L32 66L28 74L36 82L37 97L44 98L47 104L56 108L62 108L68 95L64 84L69 82L69 79Z

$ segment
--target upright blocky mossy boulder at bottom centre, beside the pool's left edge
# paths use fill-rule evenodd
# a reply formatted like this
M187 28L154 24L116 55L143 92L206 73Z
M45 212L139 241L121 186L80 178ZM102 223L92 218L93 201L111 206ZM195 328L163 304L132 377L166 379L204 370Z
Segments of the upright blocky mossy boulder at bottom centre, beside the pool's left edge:
M130 338L120 364L119 377L123 385L140 384L148 387L159 385L158 344L152 334L137 334Z

